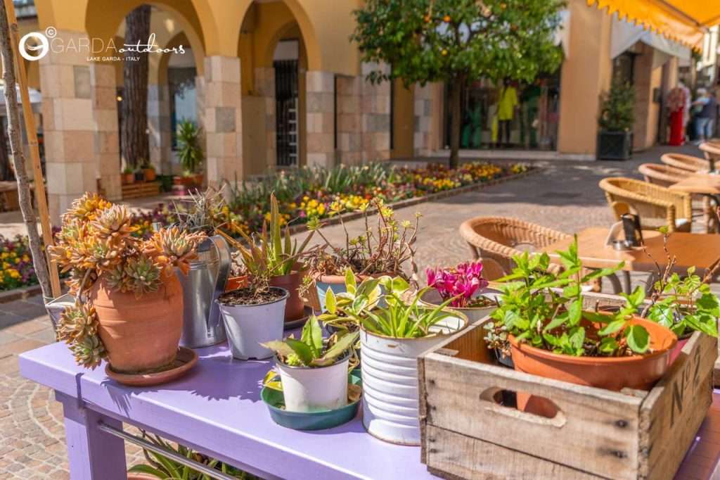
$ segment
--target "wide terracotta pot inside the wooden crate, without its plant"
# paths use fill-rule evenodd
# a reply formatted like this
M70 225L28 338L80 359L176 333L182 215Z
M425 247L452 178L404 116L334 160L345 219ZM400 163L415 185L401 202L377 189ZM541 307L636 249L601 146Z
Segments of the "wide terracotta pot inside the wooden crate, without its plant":
M515 337L510 335L508 340L515 370L614 391L623 388L649 390L665 375L670 352L678 338L670 329L654 321L635 316L630 322L647 329L652 353L631 357L574 357L531 347L527 343L518 344ZM552 402L523 392L518 392L518 409L544 417L554 417L557 413Z

